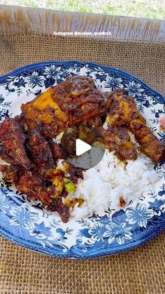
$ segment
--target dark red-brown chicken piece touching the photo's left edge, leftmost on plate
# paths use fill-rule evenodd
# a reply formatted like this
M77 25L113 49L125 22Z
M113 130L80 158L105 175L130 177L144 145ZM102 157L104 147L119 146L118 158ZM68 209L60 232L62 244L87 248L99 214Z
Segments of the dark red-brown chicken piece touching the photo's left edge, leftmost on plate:
M2 144L0 148L2 159L8 163L15 162L15 164L19 164L27 170L31 168L32 163L24 148L25 137L15 119L5 119L1 123L0 142Z

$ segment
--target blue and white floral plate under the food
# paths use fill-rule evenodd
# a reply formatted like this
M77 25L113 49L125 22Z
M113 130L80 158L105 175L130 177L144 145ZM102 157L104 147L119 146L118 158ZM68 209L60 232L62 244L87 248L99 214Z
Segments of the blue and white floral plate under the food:
M20 105L67 76L91 76L102 91L123 88L133 96L138 109L158 138L159 116L165 114L165 99L135 76L119 69L77 61L44 62L17 69L0 78L0 119L20 113ZM156 164L165 171L165 163ZM104 216L93 215L84 220L64 224L57 213L43 211L40 203L8 187L1 180L0 234L21 246L59 258L97 258L134 248L162 232L165 228L164 179L155 185L155 194L139 195L124 211Z

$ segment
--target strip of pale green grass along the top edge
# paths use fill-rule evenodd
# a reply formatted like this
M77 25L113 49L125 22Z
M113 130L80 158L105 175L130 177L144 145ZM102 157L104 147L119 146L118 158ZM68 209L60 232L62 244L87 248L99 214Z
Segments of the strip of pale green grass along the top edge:
M165 19L165 0L0 0L0 4Z

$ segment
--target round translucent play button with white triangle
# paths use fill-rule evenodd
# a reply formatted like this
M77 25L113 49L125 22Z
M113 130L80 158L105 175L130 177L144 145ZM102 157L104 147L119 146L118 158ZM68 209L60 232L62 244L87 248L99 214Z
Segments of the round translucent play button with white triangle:
M105 153L103 135L98 128L82 124L68 130L62 136L62 148L65 160L79 168L93 168Z

